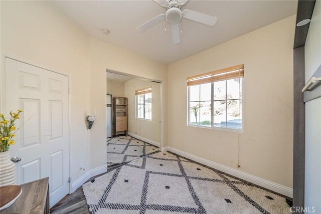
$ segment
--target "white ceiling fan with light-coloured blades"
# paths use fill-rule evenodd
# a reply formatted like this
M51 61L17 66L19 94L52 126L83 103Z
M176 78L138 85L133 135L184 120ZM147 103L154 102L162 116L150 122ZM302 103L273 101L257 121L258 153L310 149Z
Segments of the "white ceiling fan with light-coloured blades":
M149 20L148 22L137 27L136 30L139 32L144 32L148 28L151 28L163 20L166 20L172 26L173 42L178 44L181 42L180 38L180 21L182 17L188 20L192 20L204 25L214 26L217 22L217 17L212 17L207 14L202 14L200 12L181 9L186 5L189 0L152 0L159 6L165 8L167 11L165 14L156 16L155 18Z

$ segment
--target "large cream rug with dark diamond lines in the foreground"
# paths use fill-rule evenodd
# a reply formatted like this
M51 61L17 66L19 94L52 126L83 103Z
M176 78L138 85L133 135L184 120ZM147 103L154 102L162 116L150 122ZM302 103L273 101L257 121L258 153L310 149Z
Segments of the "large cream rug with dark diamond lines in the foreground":
M290 200L168 152L82 185L90 213L290 213Z

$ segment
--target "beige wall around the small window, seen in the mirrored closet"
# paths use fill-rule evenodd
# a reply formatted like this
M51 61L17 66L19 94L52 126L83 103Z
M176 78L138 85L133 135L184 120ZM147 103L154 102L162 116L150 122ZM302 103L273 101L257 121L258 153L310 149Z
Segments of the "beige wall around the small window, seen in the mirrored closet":
M135 90L151 86L151 120L136 119ZM128 132L160 143L161 129L161 84L135 78L125 82L125 97L128 98ZM148 141L148 142L150 142Z

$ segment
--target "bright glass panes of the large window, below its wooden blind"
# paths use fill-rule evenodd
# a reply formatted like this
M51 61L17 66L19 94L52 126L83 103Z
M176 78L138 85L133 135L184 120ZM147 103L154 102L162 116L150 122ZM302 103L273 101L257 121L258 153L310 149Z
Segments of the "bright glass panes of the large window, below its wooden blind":
M242 129L242 78L189 86L189 111L189 125Z

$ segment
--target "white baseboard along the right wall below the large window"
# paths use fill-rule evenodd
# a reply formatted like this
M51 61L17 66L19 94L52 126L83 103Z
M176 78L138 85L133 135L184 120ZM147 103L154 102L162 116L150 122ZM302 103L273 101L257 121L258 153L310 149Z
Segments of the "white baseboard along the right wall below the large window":
M220 170L222 172L225 172L227 174L230 174L230 175L233 175L235 177L241 178L241 179L246 180L248 182L251 182L251 183L254 183L256 185L262 186L264 188L270 189L270 190L275 191L277 193L280 193L282 195L285 195L285 196L288 196L288 197L292 197L292 195L293 195L293 189L289 188L287 186L283 186L283 185L280 185L278 183L275 183L275 182L272 182L272 181L269 181L269 180L266 180L266 179L251 175L251 174L248 174L246 172L242 172L240 170L237 170L237 169L234 169L234 168L231 168L231 167L228 167L228 166L224 166L224 165L222 165L220 163L216 163L214 161L207 160L205 158L202 158L202 157L187 153L185 151L181 151L179 149L176 149L176 148L173 148L173 147L170 147L170 146L165 147L164 150L165 151L174 152L174 153L179 154L179 155L181 155L183 157L186 157L186 158L189 158L191 160L194 160L194 161L196 161L198 163L204 164L204 165L209 166L211 168Z

